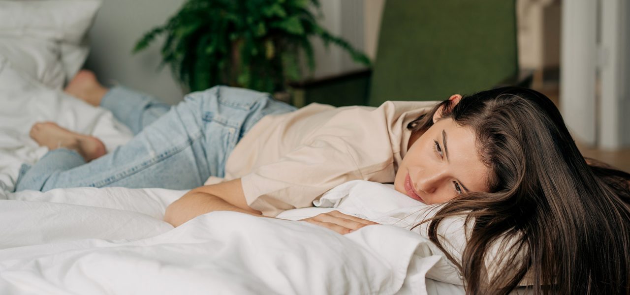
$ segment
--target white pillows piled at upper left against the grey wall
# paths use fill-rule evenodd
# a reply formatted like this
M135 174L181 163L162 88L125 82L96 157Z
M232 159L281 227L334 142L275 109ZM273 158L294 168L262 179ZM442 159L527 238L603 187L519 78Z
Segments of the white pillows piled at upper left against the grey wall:
M86 32L100 0L0 1L0 56L60 89L88 56Z

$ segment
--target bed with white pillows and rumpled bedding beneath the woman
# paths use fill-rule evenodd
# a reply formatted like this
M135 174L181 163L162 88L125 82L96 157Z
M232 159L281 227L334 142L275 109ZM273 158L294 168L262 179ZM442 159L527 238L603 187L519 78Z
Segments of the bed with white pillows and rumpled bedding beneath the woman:
M60 90L86 57L98 5L0 1L0 294L464 294L426 226L410 230L435 208L388 184L347 182L281 219L214 212L178 228L162 218L186 191L13 192L21 164L47 152L28 137L37 121L108 150L131 138L111 113ZM381 225L338 235L295 221L335 209ZM440 228L455 254L462 222Z

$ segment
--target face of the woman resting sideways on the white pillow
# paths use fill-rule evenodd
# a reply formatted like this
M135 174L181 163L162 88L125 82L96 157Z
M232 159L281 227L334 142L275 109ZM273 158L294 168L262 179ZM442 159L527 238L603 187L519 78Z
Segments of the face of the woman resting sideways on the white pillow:
M444 203L464 192L489 192L489 172L477 153L474 131L444 118L413 142L394 187L425 204Z

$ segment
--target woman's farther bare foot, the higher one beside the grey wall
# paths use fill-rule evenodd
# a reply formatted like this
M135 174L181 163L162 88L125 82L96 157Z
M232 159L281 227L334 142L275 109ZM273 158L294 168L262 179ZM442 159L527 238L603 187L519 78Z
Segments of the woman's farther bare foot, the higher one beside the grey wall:
M96 80L94 72L91 70L80 70L72 78L72 81L68 83L64 91L86 103L99 106L108 89Z

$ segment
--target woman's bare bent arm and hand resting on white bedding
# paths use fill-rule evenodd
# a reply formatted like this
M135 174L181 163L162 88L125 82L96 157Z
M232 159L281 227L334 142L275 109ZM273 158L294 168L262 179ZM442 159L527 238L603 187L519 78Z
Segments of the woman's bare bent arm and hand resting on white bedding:
M164 221L173 226L180 226L188 220L212 211L236 211L265 217L260 211L249 207L245 200L241 179L234 179L211 186L197 187L187 192L166 208ZM303 221L323 226L342 235L366 225L377 224L339 211L319 214Z

